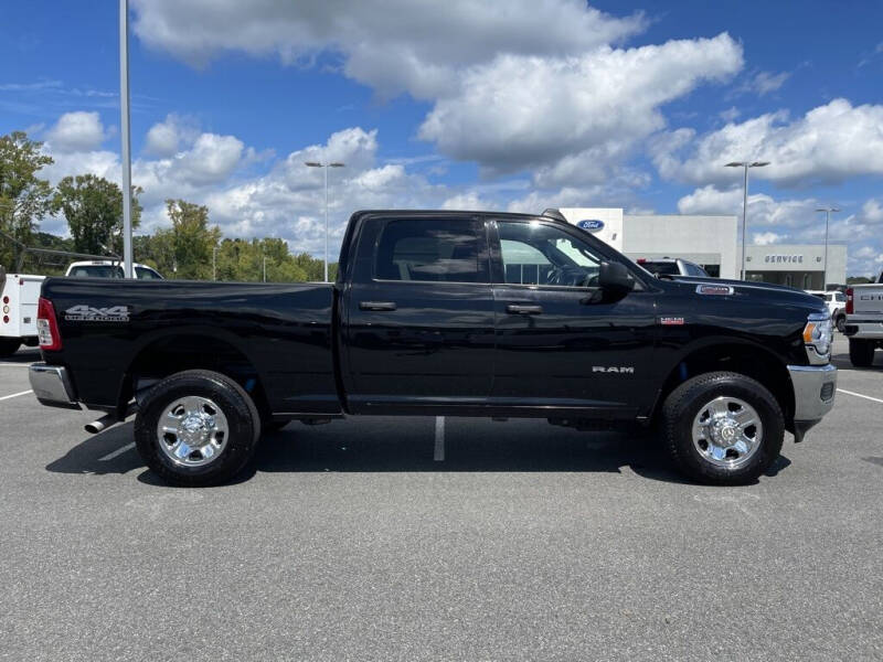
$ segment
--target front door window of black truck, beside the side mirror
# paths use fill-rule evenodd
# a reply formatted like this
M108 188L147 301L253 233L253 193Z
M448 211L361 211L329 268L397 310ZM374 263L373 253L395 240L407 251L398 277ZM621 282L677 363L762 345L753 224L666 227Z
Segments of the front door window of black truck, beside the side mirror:
M587 244L553 225L501 221L500 250L506 282L594 287L600 257Z

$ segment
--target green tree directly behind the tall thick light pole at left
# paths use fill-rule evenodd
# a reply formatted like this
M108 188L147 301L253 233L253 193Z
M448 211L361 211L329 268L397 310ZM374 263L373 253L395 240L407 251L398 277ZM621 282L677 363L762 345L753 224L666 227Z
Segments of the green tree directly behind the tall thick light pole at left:
M132 228L141 222L140 193L132 186ZM52 209L67 220L77 253L123 254L123 191L114 182L94 174L65 177L56 186Z

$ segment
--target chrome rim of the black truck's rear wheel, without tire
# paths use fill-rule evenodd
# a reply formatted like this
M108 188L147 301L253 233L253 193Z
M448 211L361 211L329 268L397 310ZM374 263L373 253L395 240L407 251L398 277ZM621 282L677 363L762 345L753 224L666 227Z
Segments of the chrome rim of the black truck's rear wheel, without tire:
M216 460L230 438L227 418L208 397L172 401L157 424L157 442L175 465L203 467Z

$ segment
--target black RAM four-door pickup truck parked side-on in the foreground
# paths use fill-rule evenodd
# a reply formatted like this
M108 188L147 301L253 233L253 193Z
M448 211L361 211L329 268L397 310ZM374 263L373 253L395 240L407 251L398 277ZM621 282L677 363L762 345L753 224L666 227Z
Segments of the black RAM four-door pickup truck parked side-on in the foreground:
M688 476L744 483L837 382L818 298L657 278L554 214L359 212L333 284L49 278L38 318L40 402L135 414L183 485L230 479L262 430L365 414L658 423Z

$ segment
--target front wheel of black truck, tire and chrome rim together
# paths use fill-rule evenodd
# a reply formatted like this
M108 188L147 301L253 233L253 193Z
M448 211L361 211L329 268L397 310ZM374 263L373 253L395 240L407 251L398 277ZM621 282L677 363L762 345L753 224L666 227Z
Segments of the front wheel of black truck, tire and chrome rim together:
M688 380L662 407L666 444L679 469L700 482L752 482L779 456L781 409L759 382L714 372Z

